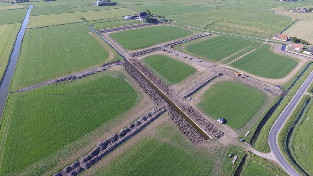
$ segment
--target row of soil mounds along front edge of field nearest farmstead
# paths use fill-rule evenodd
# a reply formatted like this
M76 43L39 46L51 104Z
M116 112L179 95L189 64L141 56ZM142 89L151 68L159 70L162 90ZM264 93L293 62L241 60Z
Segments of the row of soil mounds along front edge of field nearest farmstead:
M202 38L202 37L205 37L205 36L208 36L208 35L211 35L211 33L205 33L205 34L202 34L202 35L198 35L196 37L187 38L187 39L180 40L180 41L177 41L177 42L167 43L167 44L162 45L160 47L149 48L149 49L146 49L146 50L142 50L140 52L131 53L129 56L135 57L135 56L139 56L139 55L142 55L142 54L151 53L151 52L154 52L156 50L162 50L162 48L166 48L168 46L170 46L172 48L174 45L178 45L178 44L181 44L181 43L189 42L189 41L192 41L194 39ZM162 51L166 51L166 50L163 49Z

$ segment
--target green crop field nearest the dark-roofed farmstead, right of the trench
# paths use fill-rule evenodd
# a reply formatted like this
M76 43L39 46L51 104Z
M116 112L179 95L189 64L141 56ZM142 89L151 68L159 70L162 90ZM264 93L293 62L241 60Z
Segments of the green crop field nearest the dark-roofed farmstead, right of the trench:
M120 43L125 49L135 50L186 37L190 34L191 32L187 29L162 25L115 32L111 33L110 37Z

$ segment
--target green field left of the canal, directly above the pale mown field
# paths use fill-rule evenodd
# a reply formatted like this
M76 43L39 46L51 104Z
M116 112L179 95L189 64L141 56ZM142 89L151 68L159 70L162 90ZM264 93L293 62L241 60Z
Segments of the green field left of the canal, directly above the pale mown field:
M27 9L0 10L0 24L22 23Z

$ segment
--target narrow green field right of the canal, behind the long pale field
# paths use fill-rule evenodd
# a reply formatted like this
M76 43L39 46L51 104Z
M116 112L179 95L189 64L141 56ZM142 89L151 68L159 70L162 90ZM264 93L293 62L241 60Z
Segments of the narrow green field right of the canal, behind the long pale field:
M49 15L58 13L71 13L74 12L69 6L47 6L47 7L35 7L32 8L30 15ZM64 14L65 15L65 14Z

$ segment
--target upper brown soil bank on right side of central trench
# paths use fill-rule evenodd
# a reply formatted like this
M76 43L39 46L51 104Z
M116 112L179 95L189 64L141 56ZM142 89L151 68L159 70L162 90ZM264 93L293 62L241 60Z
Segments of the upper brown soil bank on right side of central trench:
M149 78L159 89L162 90L168 97L173 96L175 94L174 90L172 90L167 84L163 83L158 77L156 77L153 73L148 70L145 66L143 66L140 61L137 59L131 59L131 63L133 63L147 78Z

